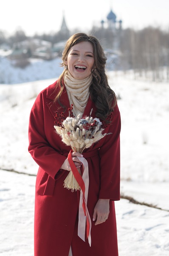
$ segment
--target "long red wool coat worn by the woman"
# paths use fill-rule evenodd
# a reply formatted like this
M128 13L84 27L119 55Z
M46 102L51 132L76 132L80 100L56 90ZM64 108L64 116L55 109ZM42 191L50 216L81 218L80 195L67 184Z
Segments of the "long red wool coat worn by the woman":
M71 192L63 186L69 172L60 167L71 148L62 143L54 129L55 111L60 108L58 102L54 103L55 95L56 82L39 93L30 114L28 150L39 165L34 256L68 256L70 244L73 256L118 256L114 208L114 201L120 199L121 119L118 106L114 109L111 124L104 130L112 134L83 152L89 165L87 208L92 221L90 247L88 240L84 242L77 236L79 191ZM65 88L60 101L67 107L67 117L70 105ZM94 118L96 107L89 98L84 116L89 116L92 108ZM104 223L95 226L93 210L99 198L110 199L110 214Z

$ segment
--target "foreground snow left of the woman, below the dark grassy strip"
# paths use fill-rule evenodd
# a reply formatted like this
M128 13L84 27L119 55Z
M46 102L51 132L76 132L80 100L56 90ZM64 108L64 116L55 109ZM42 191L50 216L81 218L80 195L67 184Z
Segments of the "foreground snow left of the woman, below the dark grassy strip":
M35 178L0 171L2 256L33 256Z

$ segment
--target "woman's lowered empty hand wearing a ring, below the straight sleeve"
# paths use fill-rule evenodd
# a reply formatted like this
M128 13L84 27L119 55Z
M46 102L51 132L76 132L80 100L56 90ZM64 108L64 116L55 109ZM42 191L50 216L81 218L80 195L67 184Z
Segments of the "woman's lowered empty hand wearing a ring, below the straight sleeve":
M95 225L105 222L109 216L109 199L99 199L94 208L93 221ZM96 220L97 219L97 220Z

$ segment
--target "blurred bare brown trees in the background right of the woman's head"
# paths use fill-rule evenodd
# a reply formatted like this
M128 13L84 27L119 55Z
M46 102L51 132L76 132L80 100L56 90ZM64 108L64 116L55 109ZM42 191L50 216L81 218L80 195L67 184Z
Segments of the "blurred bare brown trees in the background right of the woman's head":
M169 31L149 26L141 30L122 29L116 34L95 28L93 33L100 40L105 38L104 44L109 48L118 38L117 69L131 69L135 78L144 76L153 81L169 81Z

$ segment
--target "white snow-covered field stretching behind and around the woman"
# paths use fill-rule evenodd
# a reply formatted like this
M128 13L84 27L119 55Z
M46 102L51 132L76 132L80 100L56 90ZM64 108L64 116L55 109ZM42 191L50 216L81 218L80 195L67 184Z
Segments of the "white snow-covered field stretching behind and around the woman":
M56 60L55 60L56 61ZM55 62L56 76L61 72ZM36 63L36 62L35 62ZM58 68L58 70L57 70ZM31 81L0 85L0 255L33 256L35 176L37 164L28 153L28 119L35 97L56 79L50 65L27 70ZM10 79L16 77L10 69ZM165 210L115 202L119 256L169 255L169 84L135 81L108 72L110 86L121 98L121 194ZM8 78L9 79L9 78ZM26 78L24 78L26 79ZM25 80L24 80L25 81Z

